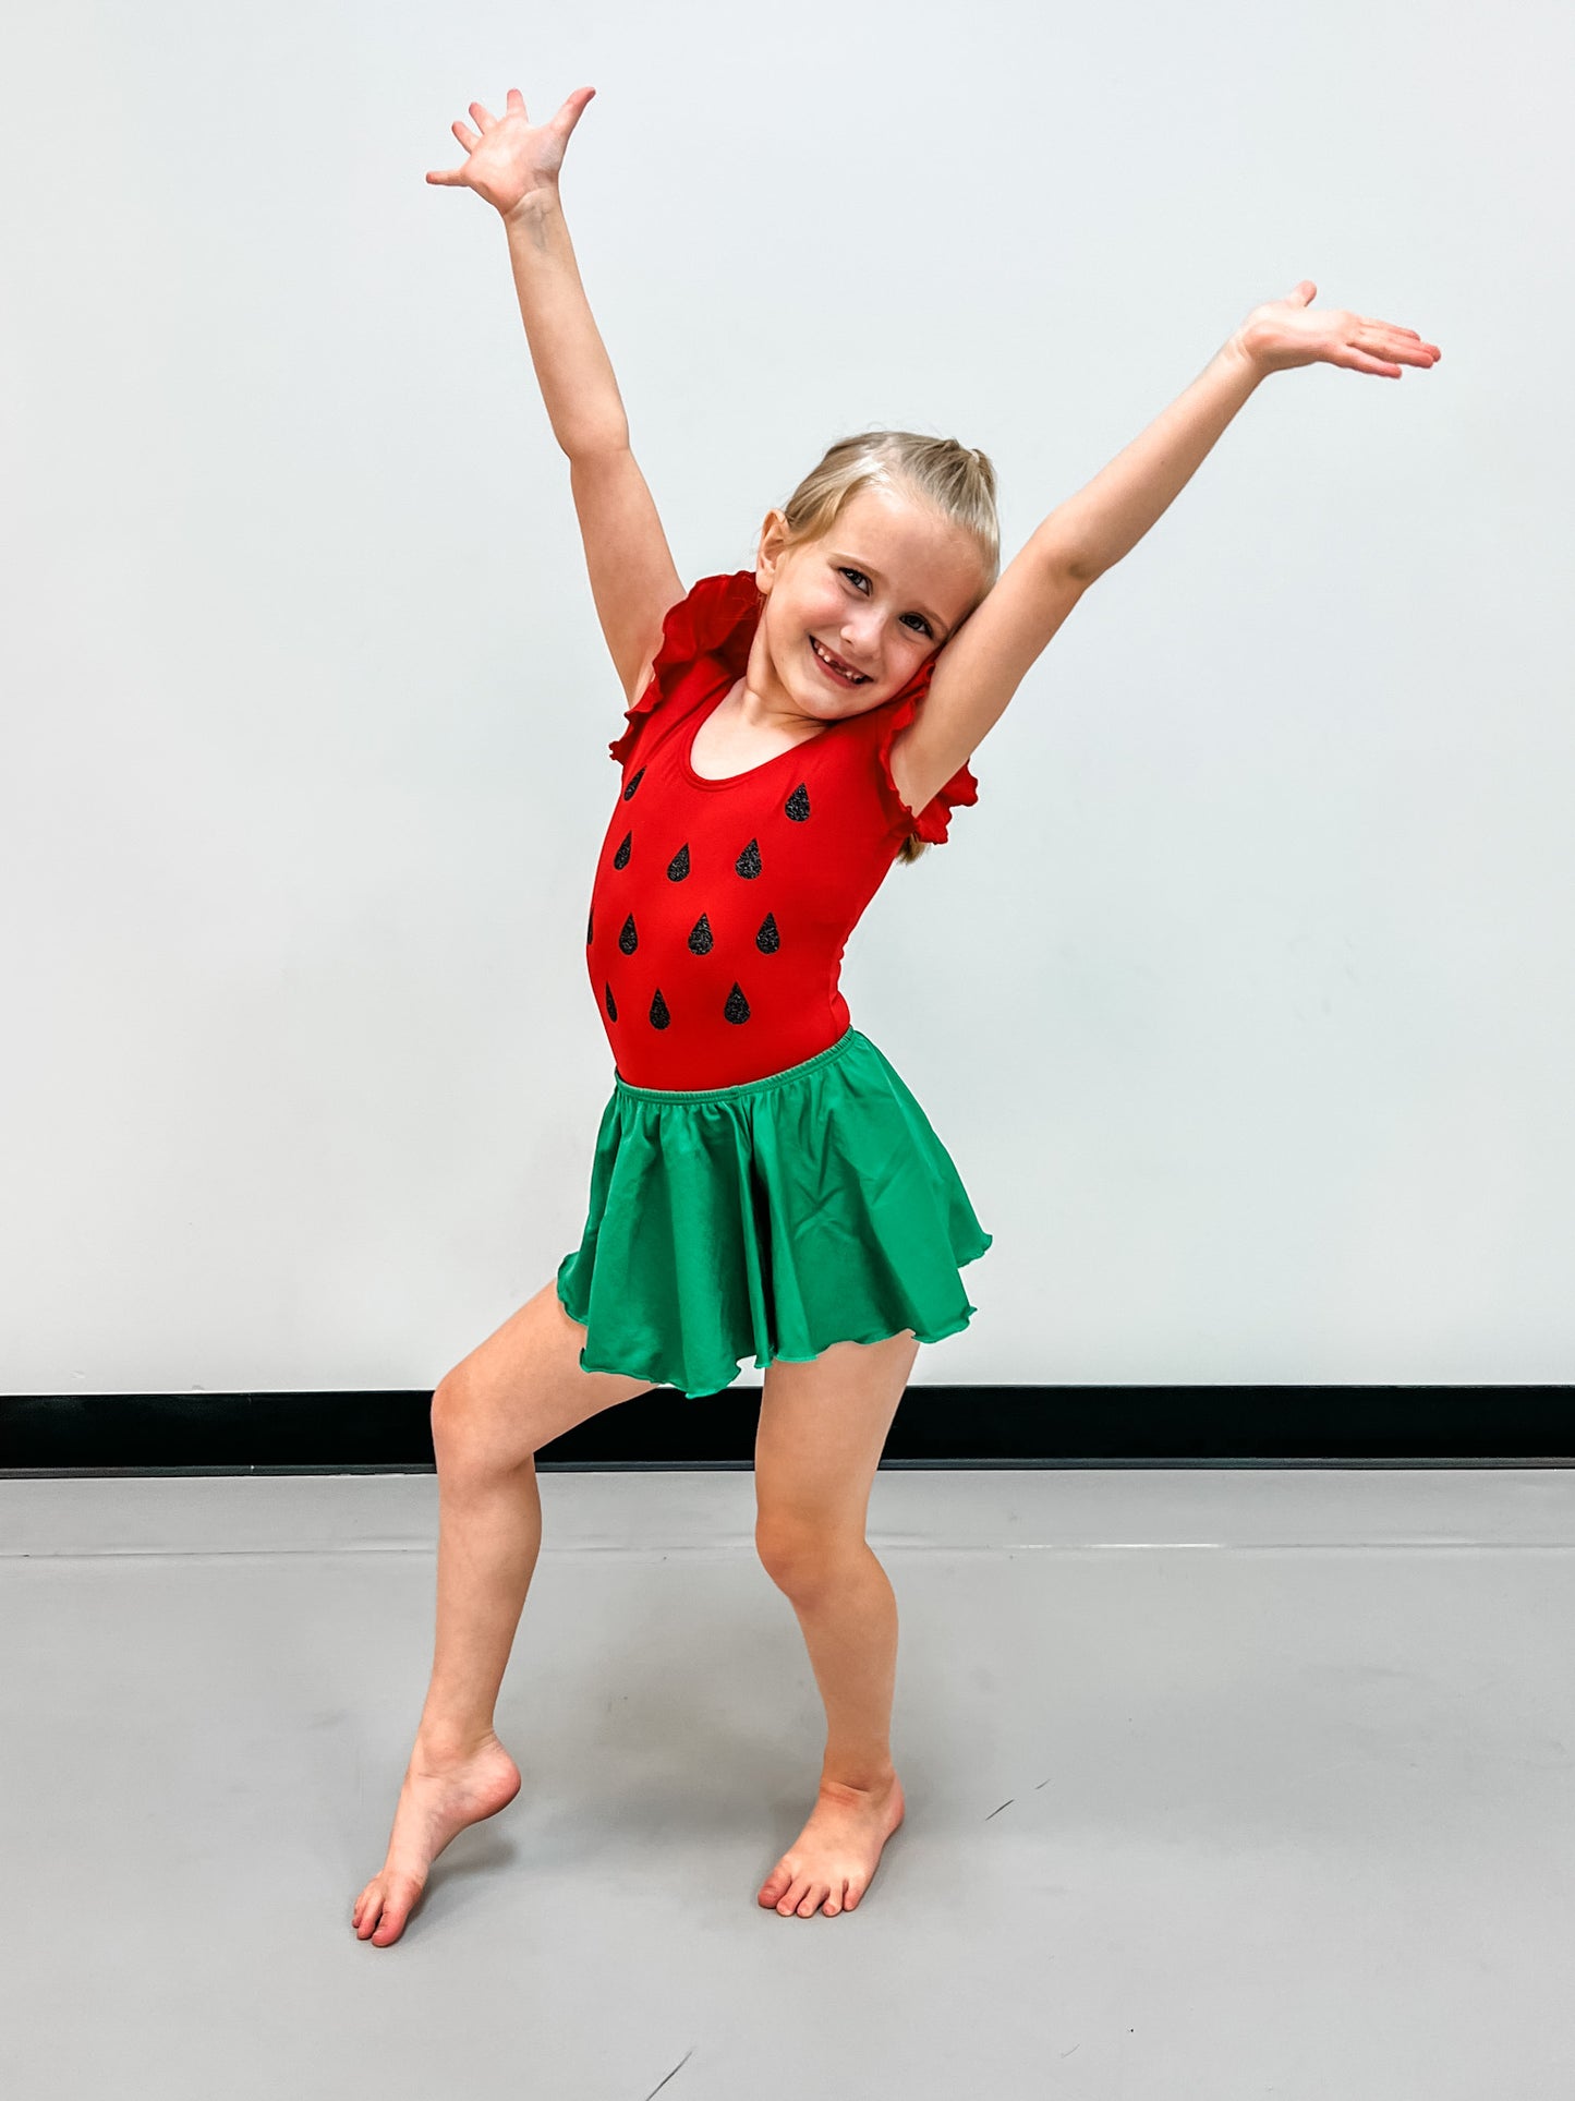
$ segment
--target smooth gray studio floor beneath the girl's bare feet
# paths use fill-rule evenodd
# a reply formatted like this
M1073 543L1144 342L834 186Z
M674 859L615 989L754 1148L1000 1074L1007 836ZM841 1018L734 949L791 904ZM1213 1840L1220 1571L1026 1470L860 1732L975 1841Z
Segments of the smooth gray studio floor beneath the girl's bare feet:
M435 1477L0 1481L4 2095L1575 2093L1575 1473L882 1473L907 1824L811 1920L752 1477L542 1490L525 1786L378 1950Z

